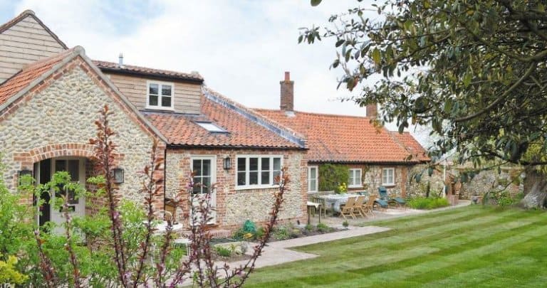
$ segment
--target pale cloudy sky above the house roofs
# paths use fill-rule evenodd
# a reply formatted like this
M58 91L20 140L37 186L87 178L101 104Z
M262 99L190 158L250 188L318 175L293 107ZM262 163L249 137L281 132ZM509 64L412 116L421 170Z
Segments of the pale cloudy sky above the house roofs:
M333 39L298 44L299 28L374 1L325 0L0 0L0 22L26 9L68 47L83 46L95 60L199 72L213 90L247 107L278 109L279 81L294 80L297 111L365 116L352 96L337 90ZM365 14L377 18L373 11ZM354 92L355 93L355 92Z

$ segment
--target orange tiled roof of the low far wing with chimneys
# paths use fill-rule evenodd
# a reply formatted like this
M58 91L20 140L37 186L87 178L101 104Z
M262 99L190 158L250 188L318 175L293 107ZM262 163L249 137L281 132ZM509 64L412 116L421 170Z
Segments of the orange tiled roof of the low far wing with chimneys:
M309 147L308 160L317 162L417 162L402 142L385 128L377 128L366 117L294 112L288 116L280 110L256 109L256 112L304 134ZM412 138L412 136L410 136ZM417 142L409 145L416 153L423 151ZM421 149L421 150L420 150ZM420 150L420 151L419 151Z

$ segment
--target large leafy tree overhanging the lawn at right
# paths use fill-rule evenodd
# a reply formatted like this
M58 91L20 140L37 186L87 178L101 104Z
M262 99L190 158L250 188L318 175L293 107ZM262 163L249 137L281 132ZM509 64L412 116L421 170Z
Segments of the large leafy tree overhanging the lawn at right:
M321 0L311 1L318 5ZM381 2L381 3L379 3ZM440 138L432 159L455 150L485 168L519 164L523 203L546 206L547 12L539 0L385 0L306 28L300 42L335 38L332 68L359 105L380 103L400 132L425 125ZM382 75L373 85L368 80ZM465 175L464 175L465 176Z

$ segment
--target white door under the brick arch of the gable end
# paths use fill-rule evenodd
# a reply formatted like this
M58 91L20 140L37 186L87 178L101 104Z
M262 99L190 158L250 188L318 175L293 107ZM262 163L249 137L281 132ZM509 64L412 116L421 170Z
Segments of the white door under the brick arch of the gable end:
M80 185L85 185L85 163L84 159L77 158L55 158L51 159L51 176L58 171L67 171L71 175L71 181L79 182ZM80 196L79 198L74 197L74 191L61 191L68 196L68 209L71 211L73 216L82 216L85 215L85 197ZM51 193L51 221L56 223L56 228L53 230L54 233L64 233L65 229L63 228L63 223L65 223L65 217L63 212L56 208L54 205L56 201L56 193Z

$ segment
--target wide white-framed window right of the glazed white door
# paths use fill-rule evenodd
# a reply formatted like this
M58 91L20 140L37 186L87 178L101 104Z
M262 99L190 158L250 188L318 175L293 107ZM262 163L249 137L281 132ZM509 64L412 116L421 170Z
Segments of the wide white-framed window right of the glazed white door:
M281 175L283 156L236 156L236 188L271 188Z

